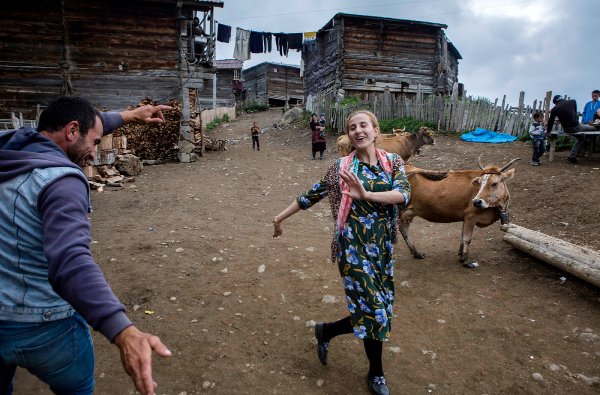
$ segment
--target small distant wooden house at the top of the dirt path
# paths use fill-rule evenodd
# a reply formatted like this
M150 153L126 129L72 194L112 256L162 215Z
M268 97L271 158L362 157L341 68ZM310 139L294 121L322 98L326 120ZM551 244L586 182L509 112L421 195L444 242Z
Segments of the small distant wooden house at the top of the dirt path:
M296 104L304 99L298 65L264 62L244 70L245 99L264 104Z

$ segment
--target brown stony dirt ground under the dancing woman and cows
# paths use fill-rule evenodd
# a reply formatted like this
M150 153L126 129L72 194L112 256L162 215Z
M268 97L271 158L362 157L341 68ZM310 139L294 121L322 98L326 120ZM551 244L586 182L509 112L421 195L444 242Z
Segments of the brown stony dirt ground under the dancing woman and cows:
M244 114L214 134L249 135L254 120L266 128L280 114ZM485 164L523 158L509 182L511 221L600 249L600 158L573 165L559 152L556 161L544 156L532 167L531 146L518 141L436 140L413 165L472 169L482 152ZM337 267L328 261L328 200L284 222L280 239L270 238L273 217L337 158L335 137L325 159L314 162L306 127L269 129L260 143L260 151L244 140L197 163L148 166L134 185L92 192L94 258L137 327L173 352L155 357L158 395L368 394L362 343L337 337L322 366L307 327L348 314ZM402 240L395 249L395 317L383 353L391 393L427 394L429 384L432 394L597 393L577 374L600 376L600 340L579 336L600 334L598 288L506 245L499 222L476 228L470 257L479 267L466 269L456 255L461 227L417 218L412 239L427 258L414 259ZM325 295L338 303L323 303ZM118 349L92 336L95 393L136 393ZM17 370L15 394L49 392Z

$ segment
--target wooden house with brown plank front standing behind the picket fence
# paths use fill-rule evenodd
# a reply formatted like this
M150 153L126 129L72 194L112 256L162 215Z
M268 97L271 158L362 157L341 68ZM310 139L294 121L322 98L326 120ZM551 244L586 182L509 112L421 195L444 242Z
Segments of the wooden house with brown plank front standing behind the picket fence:
M392 97L449 92L462 59L440 23L336 14L302 51L306 95L344 89L367 99L386 87Z

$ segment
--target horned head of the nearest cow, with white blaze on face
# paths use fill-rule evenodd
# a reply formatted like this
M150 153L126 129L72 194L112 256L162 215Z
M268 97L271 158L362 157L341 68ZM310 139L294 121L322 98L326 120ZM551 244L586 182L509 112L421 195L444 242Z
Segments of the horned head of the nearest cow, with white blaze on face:
M514 162L521 159L512 159L503 168L496 166L483 167L481 165L481 155L479 155L478 159L481 176L473 180L473 185L479 186L479 191L475 198L473 198L473 206L478 209L500 206L503 210L506 210L510 196L506 180L511 179L515 175L515 169L513 168L506 172L505 170Z

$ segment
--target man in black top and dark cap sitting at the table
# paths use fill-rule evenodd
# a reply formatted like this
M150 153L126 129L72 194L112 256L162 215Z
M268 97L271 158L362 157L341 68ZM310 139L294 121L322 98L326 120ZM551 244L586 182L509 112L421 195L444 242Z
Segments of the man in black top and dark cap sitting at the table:
M554 126L554 120L556 118L559 119L560 124L563 126L565 133L573 134L577 132L596 132L596 129L590 125L581 125L577 116L577 102L575 100L565 100L562 96L556 95L552 99L554 103L554 107L550 110L550 117L548 119L548 130L547 134L550 134L552 131L552 127ZM575 153L580 149L580 147L585 143L586 136L585 135L574 135L573 137L577 138L575 141L575 145L571 149L571 153L566 158L569 162L577 163L577 159L575 159Z

